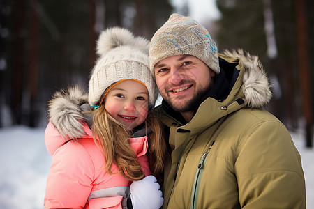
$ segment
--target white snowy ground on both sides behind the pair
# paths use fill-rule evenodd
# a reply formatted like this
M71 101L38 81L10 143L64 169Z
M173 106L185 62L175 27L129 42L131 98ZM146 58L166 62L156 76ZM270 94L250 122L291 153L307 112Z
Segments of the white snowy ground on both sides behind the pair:
M0 208L43 208L45 180L51 157L42 128L0 129ZM314 148L304 147L302 134L292 133L306 178L307 208L314 208ZM312 197L312 198L310 198Z

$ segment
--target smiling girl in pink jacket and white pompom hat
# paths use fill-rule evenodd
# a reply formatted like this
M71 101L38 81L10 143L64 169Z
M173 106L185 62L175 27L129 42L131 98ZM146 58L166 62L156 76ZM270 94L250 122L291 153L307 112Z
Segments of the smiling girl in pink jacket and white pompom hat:
M126 29L107 29L97 43L89 104L77 87L54 94L45 131L52 155L45 208L163 205L154 176L163 171L165 141L149 114L158 90L148 49L148 40Z

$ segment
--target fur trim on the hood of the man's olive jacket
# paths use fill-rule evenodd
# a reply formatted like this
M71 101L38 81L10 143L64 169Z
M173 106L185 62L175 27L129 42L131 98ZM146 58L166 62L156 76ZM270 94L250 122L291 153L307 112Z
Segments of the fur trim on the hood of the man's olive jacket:
M244 65L243 93L247 107L260 109L268 104L272 97L271 84L258 56L242 49L225 51L223 54L239 57Z

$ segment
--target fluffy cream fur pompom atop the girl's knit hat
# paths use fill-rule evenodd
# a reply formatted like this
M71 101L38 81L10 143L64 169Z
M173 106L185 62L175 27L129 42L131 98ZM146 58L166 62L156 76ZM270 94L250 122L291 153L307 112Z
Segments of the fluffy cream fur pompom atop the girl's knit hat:
M145 54L149 53L149 41L142 37L134 37L128 29L113 27L103 31L97 42L97 54L105 56L110 50L120 46L136 47Z

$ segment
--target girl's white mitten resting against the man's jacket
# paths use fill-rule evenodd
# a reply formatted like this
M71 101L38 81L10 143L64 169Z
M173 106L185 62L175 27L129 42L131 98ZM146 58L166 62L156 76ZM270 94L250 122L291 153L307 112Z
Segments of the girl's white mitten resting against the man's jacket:
M163 206L163 192L155 176L146 176L130 185L130 199L134 209L158 209Z

